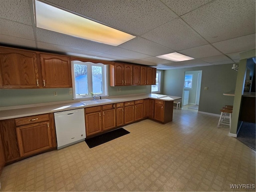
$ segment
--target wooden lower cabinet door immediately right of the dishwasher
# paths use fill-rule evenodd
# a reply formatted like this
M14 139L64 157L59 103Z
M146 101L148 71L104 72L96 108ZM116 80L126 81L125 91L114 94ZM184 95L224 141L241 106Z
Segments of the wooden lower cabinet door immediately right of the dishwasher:
M101 112L85 114L86 136L102 132Z

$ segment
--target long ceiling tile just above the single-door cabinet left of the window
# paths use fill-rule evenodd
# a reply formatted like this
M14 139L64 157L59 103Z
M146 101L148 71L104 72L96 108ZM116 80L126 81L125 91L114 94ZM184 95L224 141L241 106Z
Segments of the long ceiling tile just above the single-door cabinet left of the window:
M39 49L49 50L49 51L56 51L56 52L62 52L68 55L72 56L83 56L83 57L94 57L101 53L99 52L92 52L88 50L82 50L82 49L76 49L72 47L66 47L66 46L60 46L50 43L44 43L44 42L37 42Z

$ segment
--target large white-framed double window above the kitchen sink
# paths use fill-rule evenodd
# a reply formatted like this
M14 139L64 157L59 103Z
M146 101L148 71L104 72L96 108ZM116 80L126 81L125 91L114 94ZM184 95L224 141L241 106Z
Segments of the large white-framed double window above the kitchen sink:
M106 65L91 62L72 62L74 99L108 95Z

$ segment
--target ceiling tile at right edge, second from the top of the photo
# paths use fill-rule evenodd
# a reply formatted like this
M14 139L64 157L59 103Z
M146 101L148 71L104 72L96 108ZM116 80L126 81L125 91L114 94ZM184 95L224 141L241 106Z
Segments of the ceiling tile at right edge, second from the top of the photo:
M242 52L246 50L255 49L255 33L233 38L225 41L220 41L213 43L212 45L216 47L221 52L228 54L234 52Z

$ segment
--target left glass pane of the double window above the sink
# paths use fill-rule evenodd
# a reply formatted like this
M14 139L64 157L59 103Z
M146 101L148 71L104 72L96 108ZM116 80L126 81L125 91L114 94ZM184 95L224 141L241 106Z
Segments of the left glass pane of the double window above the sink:
M74 64L76 95L88 94L86 65Z

